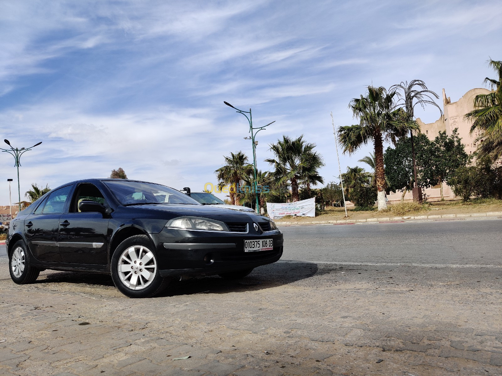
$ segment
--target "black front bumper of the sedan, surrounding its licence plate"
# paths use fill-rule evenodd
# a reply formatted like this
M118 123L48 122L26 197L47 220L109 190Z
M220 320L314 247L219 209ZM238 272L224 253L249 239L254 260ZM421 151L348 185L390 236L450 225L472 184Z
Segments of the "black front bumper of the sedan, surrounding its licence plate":
M279 230L262 234L225 234L164 229L150 236L156 246L163 277L218 274L271 264L281 258L284 242ZM244 240L255 239L273 239L273 250L244 252Z

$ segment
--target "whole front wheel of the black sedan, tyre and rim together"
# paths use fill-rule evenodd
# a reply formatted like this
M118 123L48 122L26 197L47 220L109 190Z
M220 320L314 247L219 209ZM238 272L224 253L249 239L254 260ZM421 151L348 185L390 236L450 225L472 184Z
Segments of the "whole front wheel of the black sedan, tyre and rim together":
M130 298L159 294L170 279L160 275L155 247L146 235L135 235L118 245L111 257L111 278Z

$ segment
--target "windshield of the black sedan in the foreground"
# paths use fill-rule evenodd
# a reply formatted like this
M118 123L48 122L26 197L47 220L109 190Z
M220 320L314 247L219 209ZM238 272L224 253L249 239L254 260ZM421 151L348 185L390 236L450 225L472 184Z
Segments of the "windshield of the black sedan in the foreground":
M128 180L105 180L121 205L141 204L195 204L197 201L172 188L160 184Z

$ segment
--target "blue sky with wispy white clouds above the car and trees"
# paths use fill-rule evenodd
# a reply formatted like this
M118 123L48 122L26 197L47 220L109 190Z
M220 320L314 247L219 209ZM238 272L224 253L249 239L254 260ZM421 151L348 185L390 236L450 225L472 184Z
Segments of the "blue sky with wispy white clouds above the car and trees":
M0 133L14 147L43 142L21 159L22 196L118 167L201 191L224 155L253 159L247 120L227 101L252 108L255 126L275 120L257 136L259 169L270 143L303 134L329 182L331 111L336 127L357 123L348 104L368 85L421 79L452 101L483 87L486 60L502 60L501 19L499 0L0 0ZM415 115L433 122L439 110ZM371 150L340 154L342 170ZM8 205L16 168L0 161Z

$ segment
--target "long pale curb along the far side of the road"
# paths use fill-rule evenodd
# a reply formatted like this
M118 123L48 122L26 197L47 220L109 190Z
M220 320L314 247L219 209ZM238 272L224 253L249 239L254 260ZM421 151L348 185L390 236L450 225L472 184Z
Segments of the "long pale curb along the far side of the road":
M338 221L312 221L312 222L276 222L277 226L288 225L354 225L357 223L400 223L408 220L438 220L438 219L452 219L460 218L465 219L469 217L486 218L486 217L501 217L502 212L487 212L487 213L472 213L472 214L443 214L431 216L403 216L403 217L382 217L382 218L368 218L360 220L338 220Z

